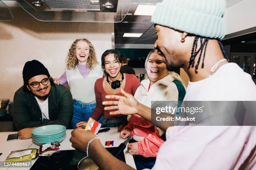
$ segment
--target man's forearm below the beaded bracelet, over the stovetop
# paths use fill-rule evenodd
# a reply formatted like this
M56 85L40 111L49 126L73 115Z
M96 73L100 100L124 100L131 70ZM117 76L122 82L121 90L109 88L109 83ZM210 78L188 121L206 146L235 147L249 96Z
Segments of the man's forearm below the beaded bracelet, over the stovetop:
M95 140L90 144L89 155L101 170L134 170L109 153L108 150L101 145L99 140Z

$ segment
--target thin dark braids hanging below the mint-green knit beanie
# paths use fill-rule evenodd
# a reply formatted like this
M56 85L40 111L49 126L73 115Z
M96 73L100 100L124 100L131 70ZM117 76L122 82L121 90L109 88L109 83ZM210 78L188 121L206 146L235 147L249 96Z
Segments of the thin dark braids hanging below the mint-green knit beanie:
M200 43L201 43L201 46L200 46L199 50L197 50L197 42L198 42L198 40L200 40ZM195 57L200 52L197 64L195 66L195 71L197 71L197 69L198 69L198 66L200 64L200 60L201 60L203 52L204 53L203 53L203 59L202 59L202 68L204 67L205 52L206 52L208 41L209 41L209 38L207 38L207 37L195 36L195 39L194 39L194 42L193 42L193 46L192 46L192 51L191 51L191 57L189 59L189 67L191 66L193 68L194 65L195 65ZM218 40L218 42L219 42L220 48L221 48L221 50L223 52L223 55L224 55L225 59L228 60L228 55L225 52L224 46L222 45L220 40Z

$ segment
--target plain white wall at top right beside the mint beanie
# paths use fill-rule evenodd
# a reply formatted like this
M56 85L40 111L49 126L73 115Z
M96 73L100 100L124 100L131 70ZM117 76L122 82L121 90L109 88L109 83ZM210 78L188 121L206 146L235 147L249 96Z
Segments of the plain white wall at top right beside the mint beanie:
M256 0L243 0L226 9L227 34L256 27Z

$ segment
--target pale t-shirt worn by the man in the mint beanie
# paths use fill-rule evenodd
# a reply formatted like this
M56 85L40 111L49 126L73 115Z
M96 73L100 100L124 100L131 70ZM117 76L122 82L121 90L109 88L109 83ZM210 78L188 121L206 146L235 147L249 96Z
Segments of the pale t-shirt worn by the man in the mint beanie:
M228 63L211 77L189 82L184 100L256 101L256 85L238 65ZM170 127L153 170L238 169L246 159L246 168L253 169L256 158L249 155L255 145L254 126Z

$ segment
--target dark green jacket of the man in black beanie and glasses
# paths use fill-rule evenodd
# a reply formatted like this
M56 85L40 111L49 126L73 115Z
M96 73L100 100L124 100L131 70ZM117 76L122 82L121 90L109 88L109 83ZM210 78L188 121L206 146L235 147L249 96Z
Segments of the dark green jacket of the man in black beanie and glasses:
M13 121L18 130L43 125L64 125L68 128L74 106L71 92L62 85L51 85L48 97L49 118L42 120L42 112L35 96L20 87L13 99Z

